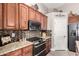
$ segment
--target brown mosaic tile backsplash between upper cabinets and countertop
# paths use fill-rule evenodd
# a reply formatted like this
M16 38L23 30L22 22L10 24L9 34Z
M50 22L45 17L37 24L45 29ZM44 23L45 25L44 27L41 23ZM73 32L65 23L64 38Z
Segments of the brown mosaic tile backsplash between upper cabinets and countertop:
M12 33L15 34L15 37L12 37ZM12 42L18 41L19 39L23 40L31 37L41 37L40 31L13 31L13 30L4 30L0 31L0 35L9 34Z

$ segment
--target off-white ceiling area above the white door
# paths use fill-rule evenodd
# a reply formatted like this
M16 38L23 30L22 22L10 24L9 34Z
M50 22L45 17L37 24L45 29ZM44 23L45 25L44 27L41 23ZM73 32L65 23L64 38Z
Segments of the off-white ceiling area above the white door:
M62 7L64 3L39 3L38 6L41 5L42 9L48 13L57 10L58 8Z

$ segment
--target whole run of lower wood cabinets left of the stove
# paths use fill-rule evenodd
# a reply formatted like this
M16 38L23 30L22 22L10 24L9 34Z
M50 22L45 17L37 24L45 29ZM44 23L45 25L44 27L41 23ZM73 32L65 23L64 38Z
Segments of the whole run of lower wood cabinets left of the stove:
M32 45L26 46L24 48L6 53L2 56L32 56Z

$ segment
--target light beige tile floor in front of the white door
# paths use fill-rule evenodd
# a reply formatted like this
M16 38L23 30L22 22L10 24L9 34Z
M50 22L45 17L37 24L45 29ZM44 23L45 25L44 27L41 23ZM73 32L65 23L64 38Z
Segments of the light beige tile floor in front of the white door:
M75 56L75 52L72 51L51 51L47 56Z

